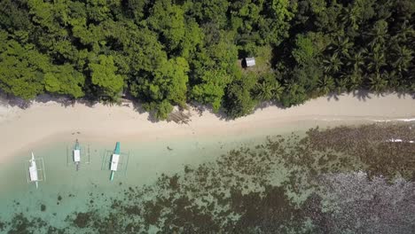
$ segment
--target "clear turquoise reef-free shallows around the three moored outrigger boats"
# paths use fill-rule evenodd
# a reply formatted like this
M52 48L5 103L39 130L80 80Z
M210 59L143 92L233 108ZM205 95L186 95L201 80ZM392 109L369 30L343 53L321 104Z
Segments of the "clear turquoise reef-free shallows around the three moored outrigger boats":
M27 183L26 162L30 152L21 152L11 161L0 164L0 220L10 220L14 214L39 217L53 226L64 226L68 214L87 210L86 202L97 207L107 204L107 199L120 198L123 188L141 187L155 183L162 174L182 172L184 165L197 166L215 160L218 156L242 145L254 145L264 141L265 135L212 137L203 139L176 139L152 143L121 142L121 152L129 152L128 166L115 173L109 180L110 171L104 159L106 151L114 144L82 141L82 152L90 148L90 164L82 163L76 171L71 161L74 142L54 142L33 149L36 158L43 158L46 180ZM67 160L67 148L69 157ZM82 160L86 157L82 155ZM127 156L123 160L127 160ZM101 199L91 200L92 194L102 194ZM44 209L42 210L42 206ZM107 205L105 205L107 206Z

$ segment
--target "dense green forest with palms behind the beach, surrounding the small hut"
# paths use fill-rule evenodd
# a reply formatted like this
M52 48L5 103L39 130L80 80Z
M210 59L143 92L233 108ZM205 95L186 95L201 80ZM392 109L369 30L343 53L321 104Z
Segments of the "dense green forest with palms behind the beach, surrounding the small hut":
M332 91L415 91L413 0L1 0L0 89L230 117ZM238 59L254 56L243 69Z

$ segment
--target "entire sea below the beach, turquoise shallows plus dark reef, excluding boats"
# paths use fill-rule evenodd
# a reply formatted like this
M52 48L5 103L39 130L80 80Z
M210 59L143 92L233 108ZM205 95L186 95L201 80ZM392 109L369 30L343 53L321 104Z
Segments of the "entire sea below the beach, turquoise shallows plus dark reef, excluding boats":
M411 128L372 125L307 135L305 129L131 139L121 142L121 151L130 153L127 170L116 172L113 182L103 156L115 141L45 140L33 147L47 175L38 190L26 178L31 149L0 165L0 232L413 232L415 185L400 176L369 176L399 168L362 158L388 160L395 151L411 157L413 145L380 141L390 134L410 137ZM76 137L90 145L90 164L81 171L67 164L66 149Z

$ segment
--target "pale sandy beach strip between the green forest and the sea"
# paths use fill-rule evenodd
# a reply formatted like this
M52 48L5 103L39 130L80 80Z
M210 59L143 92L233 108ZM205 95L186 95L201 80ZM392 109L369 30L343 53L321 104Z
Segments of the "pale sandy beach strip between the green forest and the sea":
M271 128L284 128L301 121L411 121L415 120L415 100L395 94L384 97L370 95L359 99L345 94L334 98L317 98L304 105L281 109L270 106L235 121L225 121L214 113L201 115L191 111L189 124L173 121L148 121L148 113L138 113L130 105L107 106L75 104L62 106L56 102L34 103L27 109L0 106L0 160L12 157L28 145L41 144L51 137L70 137L80 132L82 137L99 140L135 139L153 141L179 136L229 136L249 134Z

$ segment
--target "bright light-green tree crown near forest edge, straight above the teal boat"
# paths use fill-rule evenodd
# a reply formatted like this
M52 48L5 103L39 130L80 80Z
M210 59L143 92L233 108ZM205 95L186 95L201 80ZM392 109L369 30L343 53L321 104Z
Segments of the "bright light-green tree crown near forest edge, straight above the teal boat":
M112 56L99 55L96 63L90 63L90 77L92 84L98 87L99 95L117 99L123 88L123 79L116 74Z

